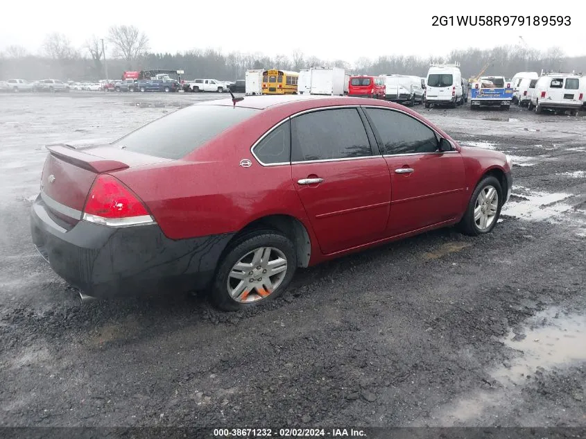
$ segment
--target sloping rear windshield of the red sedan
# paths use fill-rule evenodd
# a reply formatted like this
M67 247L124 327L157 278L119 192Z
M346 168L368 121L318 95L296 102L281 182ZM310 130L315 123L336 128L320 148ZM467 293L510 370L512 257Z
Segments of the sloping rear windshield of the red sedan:
M237 106L192 105L148 123L114 141L112 146L177 160L259 111Z

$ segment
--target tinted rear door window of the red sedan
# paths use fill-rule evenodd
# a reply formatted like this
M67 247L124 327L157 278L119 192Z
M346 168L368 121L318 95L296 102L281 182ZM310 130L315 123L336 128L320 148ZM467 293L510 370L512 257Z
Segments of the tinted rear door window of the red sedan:
M372 155L356 108L322 110L291 120L291 161L334 160Z

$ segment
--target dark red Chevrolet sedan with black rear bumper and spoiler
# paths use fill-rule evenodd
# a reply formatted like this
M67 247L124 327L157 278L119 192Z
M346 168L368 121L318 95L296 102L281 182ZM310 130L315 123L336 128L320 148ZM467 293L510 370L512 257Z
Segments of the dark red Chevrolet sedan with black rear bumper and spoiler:
M99 298L207 289L226 310L275 298L298 267L449 225L488 233L512 187L503 153L364 98L207 101L48 148L31 229L58 275Z

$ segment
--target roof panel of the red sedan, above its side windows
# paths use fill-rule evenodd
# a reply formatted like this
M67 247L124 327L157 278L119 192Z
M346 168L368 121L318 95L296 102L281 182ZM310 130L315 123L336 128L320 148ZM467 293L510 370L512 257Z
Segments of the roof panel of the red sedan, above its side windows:
M332 105L381 105L385 107L402 107L388 101L378 99L355 98L352 96L319 96L314 94L281 94L268 96L245 96L242 101L232 102L232 98L216 99L214 101L203 101L193 105L227 105L255 108L257 110L266 110L270 107L295 105L295 103L307 103L304 105L308 109L319 108L322 106L329 107Z

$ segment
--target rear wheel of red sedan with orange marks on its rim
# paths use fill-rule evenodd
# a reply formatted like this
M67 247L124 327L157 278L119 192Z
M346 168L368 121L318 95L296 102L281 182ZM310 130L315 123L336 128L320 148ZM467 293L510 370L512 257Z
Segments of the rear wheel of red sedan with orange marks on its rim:
M257 230L236 240L221 261L212 300L225 311L236 311L277 298L297 268L291 239L273 230Z

